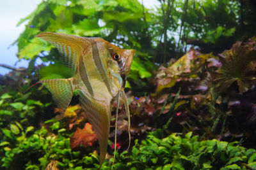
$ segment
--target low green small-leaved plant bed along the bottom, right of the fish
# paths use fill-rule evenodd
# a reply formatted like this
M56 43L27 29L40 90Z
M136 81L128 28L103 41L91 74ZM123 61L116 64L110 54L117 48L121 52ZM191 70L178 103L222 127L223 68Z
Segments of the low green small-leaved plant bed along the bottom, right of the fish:
M162 136L162 138L159 138ZM132 148L132 153L118 157L116 169L246 169L254 168L256 150L216 139L198 141L189 132L163 138L161 129L150 132L147 138Z

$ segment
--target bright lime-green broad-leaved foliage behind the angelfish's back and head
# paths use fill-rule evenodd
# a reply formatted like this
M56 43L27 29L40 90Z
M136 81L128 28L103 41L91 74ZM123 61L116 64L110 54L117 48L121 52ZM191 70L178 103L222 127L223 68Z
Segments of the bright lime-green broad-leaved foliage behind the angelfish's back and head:
M138 1L43 1L28 17L19 24L29 20L26 30L17 39L19 59L31 59L31 65L40 57L44 62L54 62L53 65L40 70L42 79L70 77L68 69L61 66L60 55L46 41L35 38L40 32L63 32L77 36L98 36L126 48L136 48L143 54L139 37L145 29L143 17L150 15ZM39 21L39 22L38 22ZM138 35L139 34L139 35ZM49 54L45 55L45 53ZM148 58L147 55L143 57ZM147 60L147 59L146 59ZM33 62L33 63L32 63ZM132 62L131 70L141 79L151 76L154 67L150 62L142 63L139 58ZM150 67L146 67L149 66ZM138 69L140 67L140 69ZM134 78L134 76L132 76ZM130 78L130 81L132 79Z

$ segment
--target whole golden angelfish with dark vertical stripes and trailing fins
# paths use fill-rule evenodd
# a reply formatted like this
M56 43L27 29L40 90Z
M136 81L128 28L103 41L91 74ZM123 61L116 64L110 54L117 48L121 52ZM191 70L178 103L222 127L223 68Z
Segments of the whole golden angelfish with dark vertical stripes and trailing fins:
M74 71L72 78L40 80L38 83L47 87L62 113L67 110L74 90L79 91L79 101L99 141L101 167L107 152L111 105L115 99L118 106L120 97L124 101L130 129L129 105L124 87L135 50L121 49L102 38L53 32L41 33L37 37L56 46L70 71ZM118 107L116 116L117 113ZM130 141L129 134L129 145Z

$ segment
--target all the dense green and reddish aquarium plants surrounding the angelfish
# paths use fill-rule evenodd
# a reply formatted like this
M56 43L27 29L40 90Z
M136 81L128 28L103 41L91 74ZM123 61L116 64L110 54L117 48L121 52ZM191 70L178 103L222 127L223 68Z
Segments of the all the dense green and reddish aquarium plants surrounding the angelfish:
M0 169L99 168L76 95L61 115L45 87L23 94L39 79L72 76L56 48L35 38L40 32L136 49L125 88L132 147L125 151L128 123L117 108L114 169L256 169L254 1L158 2L150 10L137 0L48 0L20 20L28 25L17 55L29 66L0 76ZM114 124L115 113L102 169L113 162Z

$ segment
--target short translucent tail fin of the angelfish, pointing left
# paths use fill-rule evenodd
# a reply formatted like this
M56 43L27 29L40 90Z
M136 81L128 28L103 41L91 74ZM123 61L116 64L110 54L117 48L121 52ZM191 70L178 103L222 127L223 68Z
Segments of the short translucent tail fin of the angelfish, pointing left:
M38 83L43 83L51 92L54 101L56 102L61 113L65 113L68 104L70 103L74 90L72 89L72 78L68 79L52 79L40 80Z

